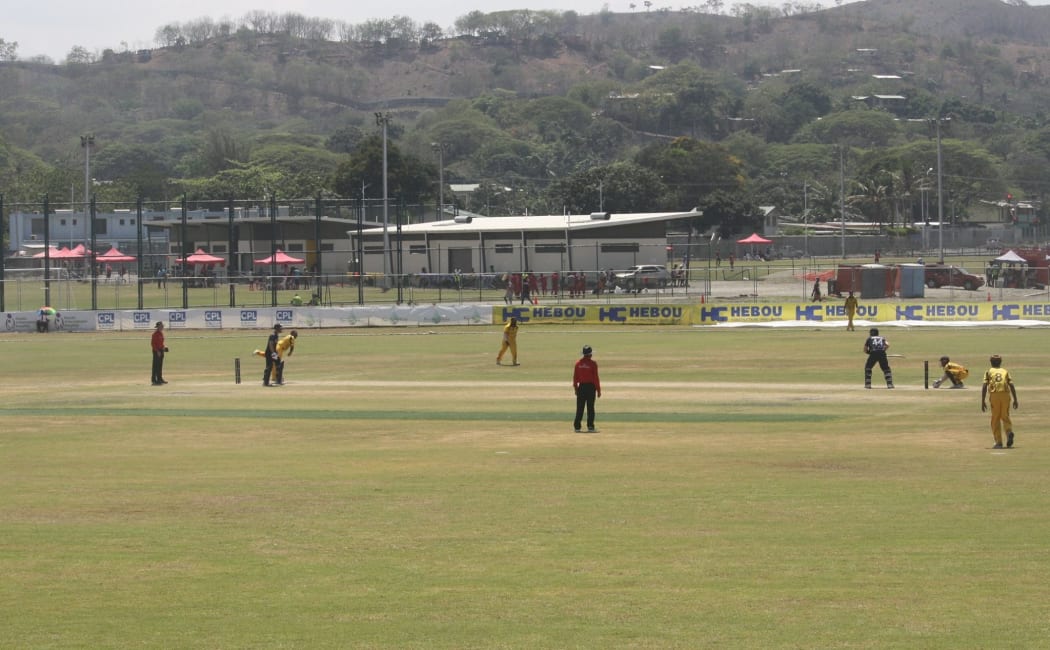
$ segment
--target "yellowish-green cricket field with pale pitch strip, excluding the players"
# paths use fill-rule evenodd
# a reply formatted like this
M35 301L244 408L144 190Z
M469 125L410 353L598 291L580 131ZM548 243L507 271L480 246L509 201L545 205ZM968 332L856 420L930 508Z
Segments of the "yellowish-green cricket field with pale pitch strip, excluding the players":
M863 331L302 331L280 389L264 334L163 387L148 333L0 335L0 647L1047 647L1047 333L883 333L896 391Z

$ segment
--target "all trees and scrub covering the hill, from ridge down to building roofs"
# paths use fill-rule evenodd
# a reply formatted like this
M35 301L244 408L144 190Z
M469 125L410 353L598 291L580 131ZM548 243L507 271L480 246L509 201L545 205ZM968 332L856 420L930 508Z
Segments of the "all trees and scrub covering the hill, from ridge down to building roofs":
M491 214L701 206L731 231L757 205L844 205L896 225L930 214L940 140L946 216L1000 218L1010 195L1037 228L1050 7L646 4L474 12L448 33L256 12L60 64L0 41L0 193L76 207L91 134L100 202L374 197L385 122L399 202L452 201L443 177L480 184L456 201Z

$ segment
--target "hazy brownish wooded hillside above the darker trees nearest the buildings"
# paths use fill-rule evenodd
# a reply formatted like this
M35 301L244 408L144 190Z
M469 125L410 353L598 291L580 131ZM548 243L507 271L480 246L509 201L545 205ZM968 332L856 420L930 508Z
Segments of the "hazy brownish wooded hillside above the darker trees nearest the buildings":
M39 179L27 183L19 172L29 168L55 176L45 181L52 187L75 184L84 133L96 137L100 173L110 175L142 167L108 161L117 143L154 156L149 165L171 180L253 164L275 143L316 152L310 173L328 174L374 131L376 111L393 117L406 152L433 158L430 143L461 133L463 125L452 123L469 106L479 133L448 149L448 177L534 181L542 189L551 176L633 156L654 139L730 142L740 124L769 145L905 145L922 134L899 125L873 135L850 124L830 140L814 119L846 120L866 107L903 124L950 106L962 120L949 137L999 155L1006 186L1027 182L1042 193L1031 179L1010 175L1034 174L1046 160L1043 150L1026 158L1018 149L1045 125L1048 75L1050 7L999 0L867 0L734 16L504 13L458 34L341 42L242 26L87 63L0 63L0 186L39 192ZM539 98L565 98L555 110L564 123L545 125L546 113L530 104ZM792 103L799 98L801 108ZM457 101L468 103L442 109ZM333 134L350 148L333 147ZM215 143L228 150L209 150ZM522 160L536 162L523 169L514 162ZM746 172L762 175L768 160L747 155Z

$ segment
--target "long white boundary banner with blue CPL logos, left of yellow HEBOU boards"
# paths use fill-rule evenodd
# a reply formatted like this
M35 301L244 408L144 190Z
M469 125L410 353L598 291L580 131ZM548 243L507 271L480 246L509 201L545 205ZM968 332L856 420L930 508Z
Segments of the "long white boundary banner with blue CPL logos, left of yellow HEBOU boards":
M37 331L38 312L4 312L5 332ZM271 330L490 324L490 305L393 305L363 307L253 307L59 312L50 332L151 331L163 322L178 330Z

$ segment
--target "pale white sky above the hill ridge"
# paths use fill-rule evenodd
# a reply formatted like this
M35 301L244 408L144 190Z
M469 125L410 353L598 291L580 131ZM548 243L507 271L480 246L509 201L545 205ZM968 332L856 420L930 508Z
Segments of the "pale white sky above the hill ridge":
M834 6L834 0L812 0L814 4ZM847 0L848 1L848 0ZM350 24L376 18L406 16L417 23L436 22L450 27L456 19L472 11L485 13L505 9L573 9L580 14L609 11L644 12L644 0L386 0L370 2L345 0L176 0L174 2L135 2L127 0L46 0L20 3L17 11L6 12L0 22L0 39L18 43L18 58L43 55L56 63L65 60L69 50L82 46L89 53L110 48L117 51L153 47L153 35L161 26L186 23L201 18L214 21L224 18L238 20L255 12L273 14L296 13L310 18L330 18ZM751 4L779 6L781 2L751 0ZM723 12L735 2L724 1ZM1050 4L1050 0L1030 0L1029 4ZM652 7L680 8L705 6L704 0L653 0ZM146 8L148 7L148 8Z

